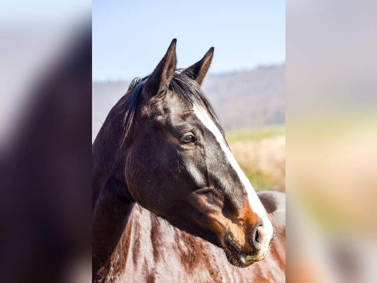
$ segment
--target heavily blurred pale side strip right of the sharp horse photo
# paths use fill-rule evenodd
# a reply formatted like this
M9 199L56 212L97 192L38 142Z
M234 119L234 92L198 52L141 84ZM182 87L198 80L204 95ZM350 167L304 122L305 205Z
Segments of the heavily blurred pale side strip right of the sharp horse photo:
M375 11L286 5L288 282L377 282Z

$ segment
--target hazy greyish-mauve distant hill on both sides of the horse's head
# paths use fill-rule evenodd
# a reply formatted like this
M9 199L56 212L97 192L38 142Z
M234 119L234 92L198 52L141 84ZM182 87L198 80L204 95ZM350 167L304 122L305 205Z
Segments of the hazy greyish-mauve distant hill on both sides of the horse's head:
M126 93L128 84L129 81L93 82L92 140L111 107ZM285 64L208 74L203 90L225 130L285 122Z

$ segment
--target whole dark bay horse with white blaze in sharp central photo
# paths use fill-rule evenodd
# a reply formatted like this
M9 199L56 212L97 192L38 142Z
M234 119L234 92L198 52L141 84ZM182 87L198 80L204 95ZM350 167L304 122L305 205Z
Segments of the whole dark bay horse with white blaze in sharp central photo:
M177 71L175 47L93 143L93 282L285 282L285 195L257 195L225 141L214 49Z

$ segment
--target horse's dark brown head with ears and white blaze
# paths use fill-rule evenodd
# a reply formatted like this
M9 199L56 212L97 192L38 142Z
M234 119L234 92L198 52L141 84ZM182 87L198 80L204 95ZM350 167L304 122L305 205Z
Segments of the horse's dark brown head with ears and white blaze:
M247 267L267 256L274 227L201 90L214 48L177 71L175 47L173 39L155 71L128 90L126 185L141 206Z

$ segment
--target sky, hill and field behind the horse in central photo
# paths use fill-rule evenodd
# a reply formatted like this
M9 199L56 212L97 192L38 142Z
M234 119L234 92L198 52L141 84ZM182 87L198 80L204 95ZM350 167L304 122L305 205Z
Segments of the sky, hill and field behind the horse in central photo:
M93 2L92 141L177 38L178 68L215 47L203 90L255 189L285 191L285 1Z

